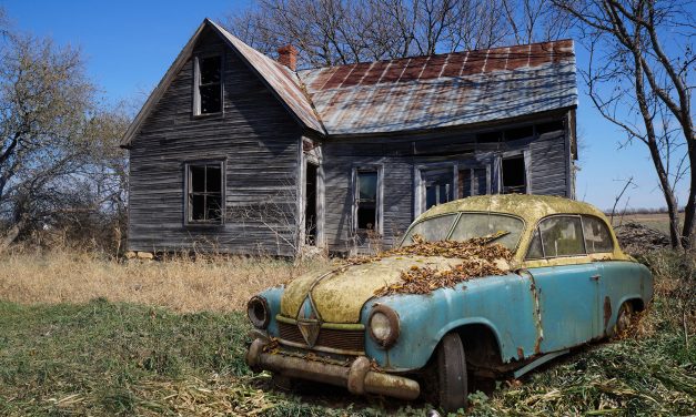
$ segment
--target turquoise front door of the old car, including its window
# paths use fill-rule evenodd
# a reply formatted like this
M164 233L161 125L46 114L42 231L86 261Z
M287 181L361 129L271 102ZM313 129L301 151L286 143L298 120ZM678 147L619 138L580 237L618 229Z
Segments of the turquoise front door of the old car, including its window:
M581 217L543 220L527 258L545 265L528 269L542 326L537 350L559 350L601 335L599 269L586 254Z

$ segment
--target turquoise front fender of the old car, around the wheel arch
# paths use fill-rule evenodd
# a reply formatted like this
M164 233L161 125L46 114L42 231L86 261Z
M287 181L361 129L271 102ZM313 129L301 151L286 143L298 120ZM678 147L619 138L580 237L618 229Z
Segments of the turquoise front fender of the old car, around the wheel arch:
M375 304L396 312L401 323L399 339L389 349L381 348L370 336L365 353L391 372L405 372L426 365L442 337L470 324L488 327L495 335L504 362L534 354L537 342L533 317L533 295L527 277L516 274L475 278L453 288L430 294L396 294L372 298L363 306L361 322Z

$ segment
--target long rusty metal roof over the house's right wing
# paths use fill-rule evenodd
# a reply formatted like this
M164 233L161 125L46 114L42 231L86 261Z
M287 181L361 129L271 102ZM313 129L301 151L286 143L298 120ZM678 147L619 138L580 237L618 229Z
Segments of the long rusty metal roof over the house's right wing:
M572 40L303 70L331 134L464 125L577 104Z

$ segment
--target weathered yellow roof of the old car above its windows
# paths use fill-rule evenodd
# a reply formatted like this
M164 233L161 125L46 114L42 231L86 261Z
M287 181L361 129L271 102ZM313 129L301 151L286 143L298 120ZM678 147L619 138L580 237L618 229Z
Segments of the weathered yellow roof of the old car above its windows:
M529 194L477 195L455 200L430 208L417 220L456 212L506 213L522 217L528 225L554 214L587 214L607 222L604 213L591 204L554 195Z

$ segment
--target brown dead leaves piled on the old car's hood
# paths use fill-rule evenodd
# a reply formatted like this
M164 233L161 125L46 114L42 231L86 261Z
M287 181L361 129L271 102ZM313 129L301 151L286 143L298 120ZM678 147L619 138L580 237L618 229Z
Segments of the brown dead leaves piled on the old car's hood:
M461 258L460 264L448 269L413 265L401 273L401 282L385 285L374 293L376 296L427 294L437 288L453 287L473 277L507 274L513 253L501 244L492 243L497 237L501 237L501 234L474 237L464 242L426 242L422 236L414 235L412 245L397 247L376 256L354 257L349 260L349 263L363 264L390 256L408 255Z

